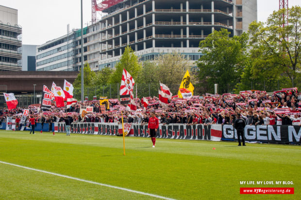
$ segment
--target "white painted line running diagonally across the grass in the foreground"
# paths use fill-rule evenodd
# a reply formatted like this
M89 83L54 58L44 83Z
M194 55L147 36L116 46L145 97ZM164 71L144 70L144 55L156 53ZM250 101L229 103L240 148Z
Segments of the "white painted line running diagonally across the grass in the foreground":
M167 198L167 197L163 197L163 196L159 196L159 195L154 195L154 194L150 194L150 193L146 193L146 192L140 192L140 191L127 189L127 188L124 188L124 187L118 187L118 186L114 186L114 185L101 184L101 183L94 182L94 181L87 181L87 180L75 178L75 177L72 177L72 176L66 176L66 175L62 175L62 174L58 174L58 173L53 173L53 172L50 172L50 171L44 171L44 170L40 170L40 169L29 168L29 167L25 167L25 166L21 166L21 165L16 165L16 164L13 164L13 163L7 163L7 162L3 162L3 161L0 161L0 163L15 166L15 167L19 167L19 168L23 168L23 169L29 169L29 170L33 170L33 171L47 173L47 174L51 174L51 175L54 175L54 176L60 176L60 177L68 178L68 179L73 179L73 180L76 180L76 181L81 181L81 182L85 182L85 183L89 183L89 184L101 185L101 186L110 187L110 188L114 188L114 189L119 189L119 190L123 190L123 191L127 191L127 192L132 192L132 193L136 193L136 194L155 197L155 198L158 198L158 199L174 200L174 199L171 199L171 198Z

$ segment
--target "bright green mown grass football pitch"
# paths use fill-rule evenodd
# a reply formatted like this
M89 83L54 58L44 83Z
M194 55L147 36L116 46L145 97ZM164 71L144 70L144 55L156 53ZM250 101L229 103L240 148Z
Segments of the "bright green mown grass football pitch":
M123 155L122 137L0 130L0 161L178 200L301 199L301 146L247 145L157 139L152 148L150 138L126 137ZM294 187L295 194L241 195L240 187ZM156 198L0 163L0 199Z

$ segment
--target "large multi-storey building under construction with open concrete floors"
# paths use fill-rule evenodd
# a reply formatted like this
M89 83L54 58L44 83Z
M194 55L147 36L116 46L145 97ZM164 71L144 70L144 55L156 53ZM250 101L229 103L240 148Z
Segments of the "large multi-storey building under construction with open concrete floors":
M97 11L107 15L97 21ZM84 62L93 70L114 67L124 48L131 46L141 61L180 52L193 63L201 56L200 41L212 31L223 28L232 36L240 35L248 31L254 20L257 20L257 0L105 0L99 4L92 0L92 22L95 23L84 29ZM61 44L66 46L68 41L72 44L67 54L69 61L72 60L68 67L48 67L51 58L49 62L44 61L48 57L46 53L43 59L37 58L37 70L78 70L79 33L73 31L68 37L64 36L67 39ZM45 53L45 46L55 45L56 40L39 46L37 54ZM52 65L61 62L52 61Z

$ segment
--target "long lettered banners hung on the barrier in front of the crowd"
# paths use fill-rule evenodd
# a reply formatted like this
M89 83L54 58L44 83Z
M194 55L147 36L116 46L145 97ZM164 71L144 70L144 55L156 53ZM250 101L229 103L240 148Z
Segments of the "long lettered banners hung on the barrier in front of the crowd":
M116 135L122 133L121 124L117 123L72 123L71 133ZM128 136L149 137L148 125L132 124ZM54 123L54 132L66 133L65 123ZM157 138L194 139L194 140L236 140L233 125L221 124L160 124ZM249 142L297 143L301 144L301 126L293 125L247 125L245 139Z

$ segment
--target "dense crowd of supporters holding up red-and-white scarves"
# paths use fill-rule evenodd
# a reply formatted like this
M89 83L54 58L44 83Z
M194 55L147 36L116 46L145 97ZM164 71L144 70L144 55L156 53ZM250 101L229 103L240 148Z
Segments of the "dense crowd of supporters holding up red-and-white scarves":
M121 111L126 123L146 124L151 111L154 111L162 124L233 124L237 114L241 114L246 124L301 125L301 92L296 88L271 94L265 91L241 91L239 94L222 95L206 93L189 100L175 97L169 100L168 108L160 107L157 97L146 99L149 102L146 108L139 99L135 99L135 113L127 111L117 99L108 100L110 109L105 113L101 113L99 101L77 102L62 108L52 106L50 110L32 106L12 110L0 108L0 122L5 122L7 116L19 119L23 109L30 109L29 117L34 117L42 125L54 122L118 123L121 121ZM80 114L81 106L93 107L93 112Z

